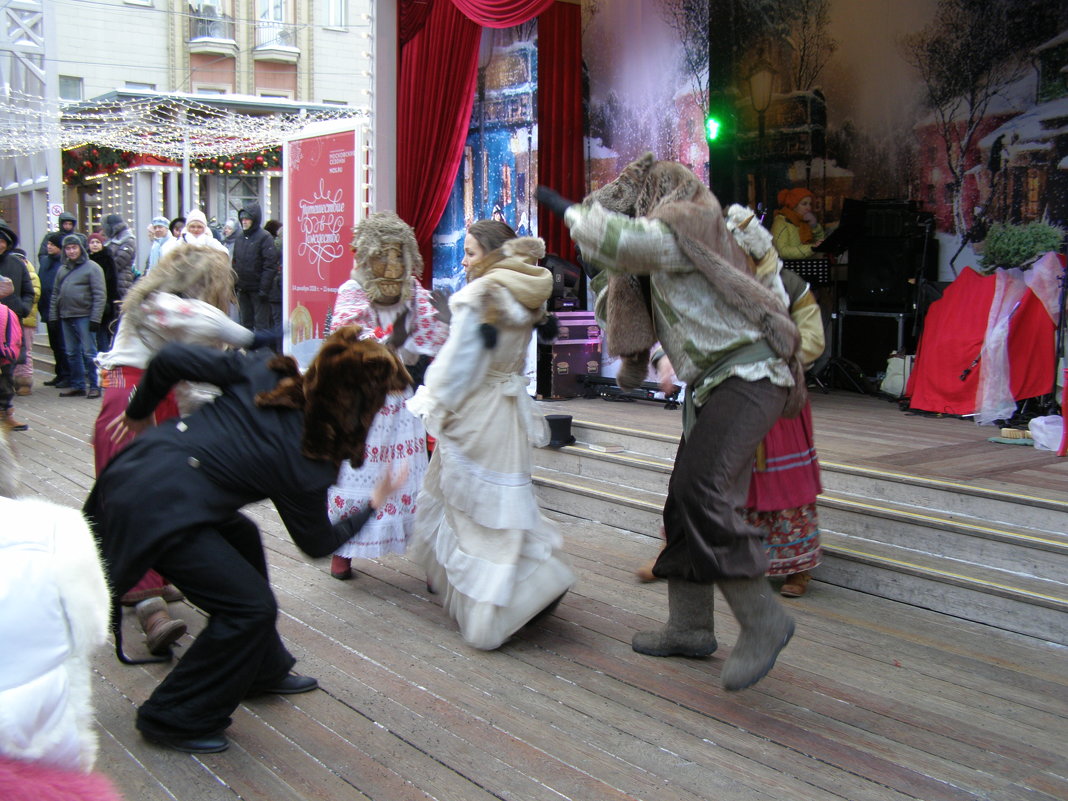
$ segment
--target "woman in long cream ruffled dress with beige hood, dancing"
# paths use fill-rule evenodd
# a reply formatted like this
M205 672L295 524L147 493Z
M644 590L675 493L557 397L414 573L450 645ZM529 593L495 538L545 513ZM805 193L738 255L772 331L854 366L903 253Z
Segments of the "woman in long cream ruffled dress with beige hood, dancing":
M523 375L552 292L535 264L545 244L480 220L464 251L468 284L450 300L449 340L408 402L437 439L411 557L464 640L489 650L550 611L576 577L531 482L532 446L549 441Z

